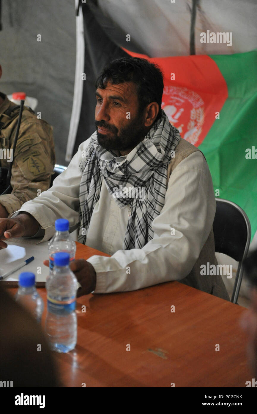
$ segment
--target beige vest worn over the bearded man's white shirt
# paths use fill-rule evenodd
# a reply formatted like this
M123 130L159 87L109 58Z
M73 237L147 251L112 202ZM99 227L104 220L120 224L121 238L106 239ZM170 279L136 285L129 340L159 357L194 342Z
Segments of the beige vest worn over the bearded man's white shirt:
M195 151L200 150L194 147L192 144L190 144L190 142L183 140L181 138L179 144L175 149L175 157L171 159L171 163L168 165L167 183L174 168L176 168L176 166L181 161L183 161L183 159L185 159L188 155L192 154ZM214 250L213 229L209 233L209 236L200 252L199 258L196 261L193 269L188 274L188 276L186 276L179 282L184 283L188 286L192 286L196 289L202 290L214 296L219 296L220 298L229 301L230 299L221 276L202 276L200 274L200 266L207 266L207 262L209 262L210 265L215 266L218 264Z

